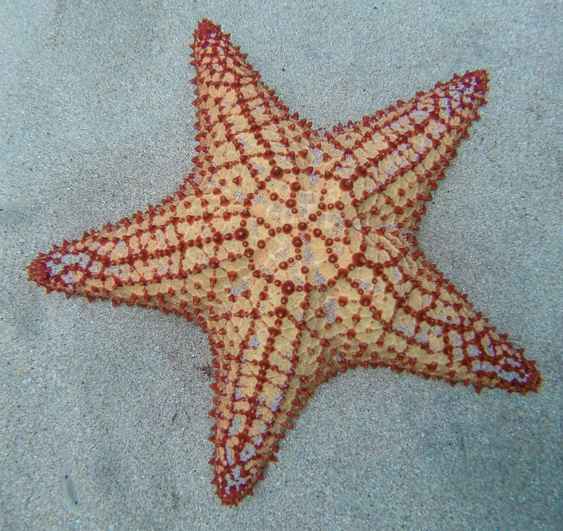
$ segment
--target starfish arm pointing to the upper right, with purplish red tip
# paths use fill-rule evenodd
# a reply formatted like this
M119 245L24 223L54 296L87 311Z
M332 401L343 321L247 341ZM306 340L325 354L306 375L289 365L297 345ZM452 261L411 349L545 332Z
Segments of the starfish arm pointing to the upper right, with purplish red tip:
M419 230L431 190L444 179L472 121L479 119L488 81L485 70L455 75L363 122L334 126L321 141L325 157L316 166L339 185L329 190L325 203L341 200L348 219L359 215L375 229Z

